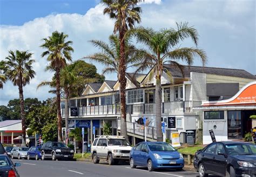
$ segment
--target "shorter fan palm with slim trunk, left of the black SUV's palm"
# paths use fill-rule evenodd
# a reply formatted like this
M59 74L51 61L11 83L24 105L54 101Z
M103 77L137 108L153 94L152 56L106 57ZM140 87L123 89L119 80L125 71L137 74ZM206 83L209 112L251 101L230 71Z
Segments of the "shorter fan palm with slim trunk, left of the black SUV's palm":
M6 57L6 76L12 81L14 86L19 88L19 105L21 106L22 120L22 145L26 145L26 125L24 112L23 87L30 83L30 80L35 77L36 72L32 70L32 64L35 60L30 59L32 53L28 51L9 51L9 56Z

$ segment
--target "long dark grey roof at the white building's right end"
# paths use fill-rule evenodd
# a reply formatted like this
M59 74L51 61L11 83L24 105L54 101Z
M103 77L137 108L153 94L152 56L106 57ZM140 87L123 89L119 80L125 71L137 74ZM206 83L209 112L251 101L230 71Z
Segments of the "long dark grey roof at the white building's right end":
M180 70L174 65L164 65L171 73L172 77L181 78L182 73ZM190 78L190 72L199 72L206 74L215 74L221 76L231 76L231 77L239 77L239 78L247 78L247 79L256 79L256 77L245 71L240 69L227 69L220 67L203 67L203 66L186 66L183 65L184 77Z

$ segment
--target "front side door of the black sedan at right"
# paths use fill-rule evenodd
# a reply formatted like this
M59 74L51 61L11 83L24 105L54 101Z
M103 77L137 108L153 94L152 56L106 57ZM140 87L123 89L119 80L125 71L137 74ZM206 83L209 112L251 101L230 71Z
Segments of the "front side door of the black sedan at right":
M226 175L227 158L226 150L223 144L218 143L213 155L213 170L216 174Z

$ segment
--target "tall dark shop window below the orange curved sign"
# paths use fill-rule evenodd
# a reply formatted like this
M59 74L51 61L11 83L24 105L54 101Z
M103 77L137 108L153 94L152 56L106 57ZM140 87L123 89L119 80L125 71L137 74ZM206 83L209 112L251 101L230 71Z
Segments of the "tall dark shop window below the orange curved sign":
M242 138L241 111L227 112L227 136L228 138Z

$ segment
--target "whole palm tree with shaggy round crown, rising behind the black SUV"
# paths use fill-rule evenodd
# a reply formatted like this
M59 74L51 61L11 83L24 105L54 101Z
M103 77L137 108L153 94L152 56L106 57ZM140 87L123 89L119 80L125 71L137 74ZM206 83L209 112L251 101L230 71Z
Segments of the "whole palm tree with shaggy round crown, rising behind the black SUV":
M72 42L66 42L68 35L63 32L55 31L52 36L44 38L44 44L41 47L46 51L42 53L42 57L48 56L50 67L55 71L56 77L56 102L57 102L57 118L58 118L58 141L63 141L62 138L62 117L60 113L60 70L66 66L67 61L71 61L71 52L73 48L70 46Z

